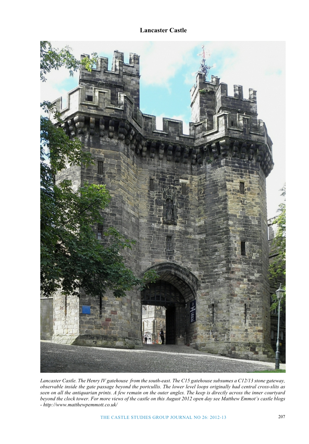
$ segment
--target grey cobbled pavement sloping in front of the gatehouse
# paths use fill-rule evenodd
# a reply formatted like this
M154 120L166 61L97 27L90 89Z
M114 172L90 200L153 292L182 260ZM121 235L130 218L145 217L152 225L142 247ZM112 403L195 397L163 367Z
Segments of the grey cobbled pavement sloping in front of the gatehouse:
M186 345L124 350L41 341L41 373L246 373L274 367L269 362L214 356Z

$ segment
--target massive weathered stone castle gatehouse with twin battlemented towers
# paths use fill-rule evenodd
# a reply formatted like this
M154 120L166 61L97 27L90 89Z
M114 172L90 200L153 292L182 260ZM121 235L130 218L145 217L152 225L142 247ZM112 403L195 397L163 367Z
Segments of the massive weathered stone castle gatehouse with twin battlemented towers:
M166 307L166 342L229 357L273 360L269 338L265 178L272 142L257 118L256 92L234 96L217 77L197 75L190 91L190 135L182 122L139 110L139 56L116 51L81 69L61 108L63 130L82 139L95 166L69 168L58 180L104 183L112 200L105 224L136 240L126 252L135 274L159 279L101 305L80 293L54 296L53 341L142 346L142 305ZM100 228L99 228L100 229ZM86 307L86 308L85 308Z

